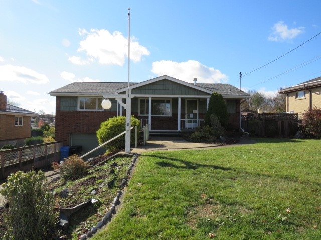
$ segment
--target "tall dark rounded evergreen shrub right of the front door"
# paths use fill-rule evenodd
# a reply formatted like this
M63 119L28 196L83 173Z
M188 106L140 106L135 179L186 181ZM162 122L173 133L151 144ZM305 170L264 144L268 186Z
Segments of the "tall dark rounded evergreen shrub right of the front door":
M227 113L227 107L222 95L216 92L212 93L211 95L211 98L209 101L209 107L205 114L205 119L204 119L205 125L212 126L211 120L210 120L210 116L212 114L216 114L219 117L220 123L224 128L227 127L228 119L229 119L229 116Z

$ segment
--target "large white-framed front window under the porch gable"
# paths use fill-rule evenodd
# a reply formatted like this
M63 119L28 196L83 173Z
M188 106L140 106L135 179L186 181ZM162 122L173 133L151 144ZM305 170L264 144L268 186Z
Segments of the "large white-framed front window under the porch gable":
M149 99L139 99L139 115L146 116L149 114ZM152 116L171 116L170 99L152 99L151 115Z

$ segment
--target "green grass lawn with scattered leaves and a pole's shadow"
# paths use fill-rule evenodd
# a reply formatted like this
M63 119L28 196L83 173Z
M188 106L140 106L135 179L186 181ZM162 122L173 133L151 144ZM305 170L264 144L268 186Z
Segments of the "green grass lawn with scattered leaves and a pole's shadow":
M258 141L145 153L92 239L321 239L321 141Z

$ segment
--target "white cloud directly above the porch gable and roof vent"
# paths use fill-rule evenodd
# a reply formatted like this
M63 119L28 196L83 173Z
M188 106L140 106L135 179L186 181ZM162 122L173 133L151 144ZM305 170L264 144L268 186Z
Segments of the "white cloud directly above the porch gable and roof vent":
M197 77L197 83L224 83L228 81L228 77L219 70L193 60L186 62L156 61L152 63L151 71L158 76L168 75L189 83L193 83L194 77Z

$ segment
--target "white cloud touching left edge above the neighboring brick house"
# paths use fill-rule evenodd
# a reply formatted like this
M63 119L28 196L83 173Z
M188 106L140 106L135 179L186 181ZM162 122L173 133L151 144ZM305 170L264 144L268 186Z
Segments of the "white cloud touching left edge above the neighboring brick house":
M46 84L49 79L24 66L3 65L0 66L0 81L11 81L16 83Z

